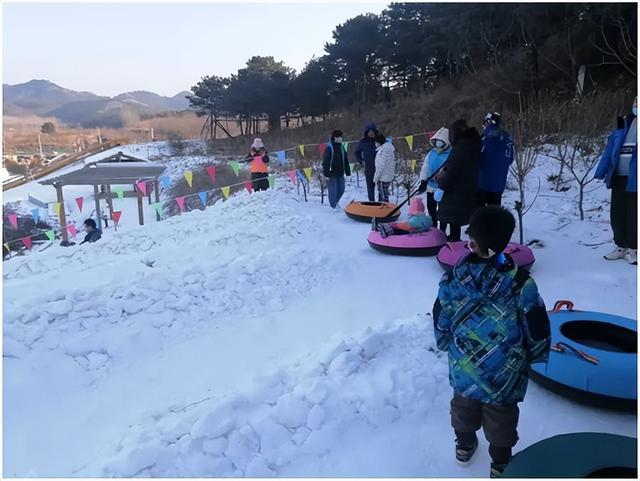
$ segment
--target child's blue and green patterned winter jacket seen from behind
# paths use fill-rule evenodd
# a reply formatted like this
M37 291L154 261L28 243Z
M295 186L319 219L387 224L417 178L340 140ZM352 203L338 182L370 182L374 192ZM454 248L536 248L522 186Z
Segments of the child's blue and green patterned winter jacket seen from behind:
M545 362L549 317L536 283L504 255L467 254L440 281L433 306L438 349L449 354L449 382L487 404L524 399L529 365Z

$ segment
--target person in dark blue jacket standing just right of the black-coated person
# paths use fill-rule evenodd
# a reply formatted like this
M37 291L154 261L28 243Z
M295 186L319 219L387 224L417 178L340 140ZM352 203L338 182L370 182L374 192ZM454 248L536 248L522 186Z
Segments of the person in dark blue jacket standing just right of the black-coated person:
M498 112L489 112L482 123L482 163L476 194L478 207L502 205L509 166L513 162L513 140L502 127Z

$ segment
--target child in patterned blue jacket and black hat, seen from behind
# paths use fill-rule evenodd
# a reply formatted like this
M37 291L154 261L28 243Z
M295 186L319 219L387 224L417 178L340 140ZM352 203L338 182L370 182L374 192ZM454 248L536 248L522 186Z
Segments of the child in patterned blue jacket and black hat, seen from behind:
M529 365L549 355L549 318L527 271L502 251L515 220L502 207L479 208L469 222L471 253L440 281L433 306L438 349L449 353L451 426L456 459L471 460L482 427L491 477L498 477L518 441L518 403Z

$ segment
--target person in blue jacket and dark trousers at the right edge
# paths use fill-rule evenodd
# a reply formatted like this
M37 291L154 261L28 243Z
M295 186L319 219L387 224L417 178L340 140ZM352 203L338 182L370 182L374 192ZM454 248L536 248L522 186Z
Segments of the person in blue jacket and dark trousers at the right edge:
M607 260L638 259L638 128L637 98L632 113L618 125L607 139L595 178L604 179L611 189L611 230L616 248L604 256Z

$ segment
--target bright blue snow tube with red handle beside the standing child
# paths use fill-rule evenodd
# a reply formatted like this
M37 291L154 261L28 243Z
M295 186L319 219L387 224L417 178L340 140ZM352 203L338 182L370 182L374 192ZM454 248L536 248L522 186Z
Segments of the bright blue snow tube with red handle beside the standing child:
M549 360L531 365L532 379L578 401L636 410L637 322L577 311L571 301L556 302L549 319Z

